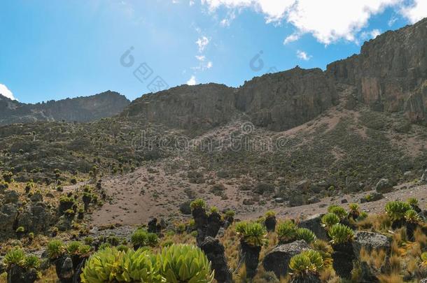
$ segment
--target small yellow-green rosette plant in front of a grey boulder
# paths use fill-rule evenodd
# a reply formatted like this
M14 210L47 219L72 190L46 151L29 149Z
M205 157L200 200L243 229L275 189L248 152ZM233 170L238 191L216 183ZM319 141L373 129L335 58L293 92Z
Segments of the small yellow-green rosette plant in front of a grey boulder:
M309 249L293 256L289 267L297 276L317 274L323 268L323 259L319 252Z

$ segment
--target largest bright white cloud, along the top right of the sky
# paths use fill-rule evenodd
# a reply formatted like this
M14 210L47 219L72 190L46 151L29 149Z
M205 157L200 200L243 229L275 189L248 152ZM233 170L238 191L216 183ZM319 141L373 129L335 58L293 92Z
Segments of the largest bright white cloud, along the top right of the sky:
M427 1L412 0L202 0L214 12L221 6L231 10L252 8L265 15L266 22L288 22L295 34L283 43L297 40L302 34L312 34L317 41L330 44L339 40L357 42L360 30L367 26L372 15L386 8L416 22L427 16Z

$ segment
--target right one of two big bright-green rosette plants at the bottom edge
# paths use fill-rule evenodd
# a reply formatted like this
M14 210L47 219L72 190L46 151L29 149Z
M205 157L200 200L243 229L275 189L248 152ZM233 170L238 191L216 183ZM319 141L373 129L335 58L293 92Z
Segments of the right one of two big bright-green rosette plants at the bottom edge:
M193 245L171 245L157 256L160 275L166 282L214 281L211 263L201 249Z

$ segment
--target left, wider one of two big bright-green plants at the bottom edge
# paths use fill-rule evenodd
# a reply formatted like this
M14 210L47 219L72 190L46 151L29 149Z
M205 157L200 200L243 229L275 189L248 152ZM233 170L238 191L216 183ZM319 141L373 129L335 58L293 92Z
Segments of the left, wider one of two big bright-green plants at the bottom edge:
M80 278L83 283L96 282L165 282L158 274L155 256L138 250L120 252L105 248L93 254L83 268Z

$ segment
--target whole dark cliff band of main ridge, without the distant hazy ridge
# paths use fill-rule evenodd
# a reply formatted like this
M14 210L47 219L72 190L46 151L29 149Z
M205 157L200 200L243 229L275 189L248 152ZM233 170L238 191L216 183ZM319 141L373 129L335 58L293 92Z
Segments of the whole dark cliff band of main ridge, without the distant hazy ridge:
M372 110L405 113L427 122L427 19L366 42L360 55L335 61L325 71L295 67L269 73L238 88L183 85L133 101L122 117L181 129L213 129L234 117L273 131L314 119L337 103L338 93Z

